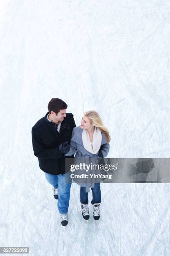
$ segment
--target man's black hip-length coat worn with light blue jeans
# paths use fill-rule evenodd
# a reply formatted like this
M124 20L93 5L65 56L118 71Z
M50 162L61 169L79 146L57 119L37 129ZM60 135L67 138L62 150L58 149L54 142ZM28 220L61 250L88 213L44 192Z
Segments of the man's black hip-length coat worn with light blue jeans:
M54 175L65 174L65 158L74 158L74 155L62 155L57 146L65 141L70 143L72 129L76 126L75 120L72 113L66 113L58 133L57 125L47 120L48 114L49 112L32 127L34 154L42 171Z

